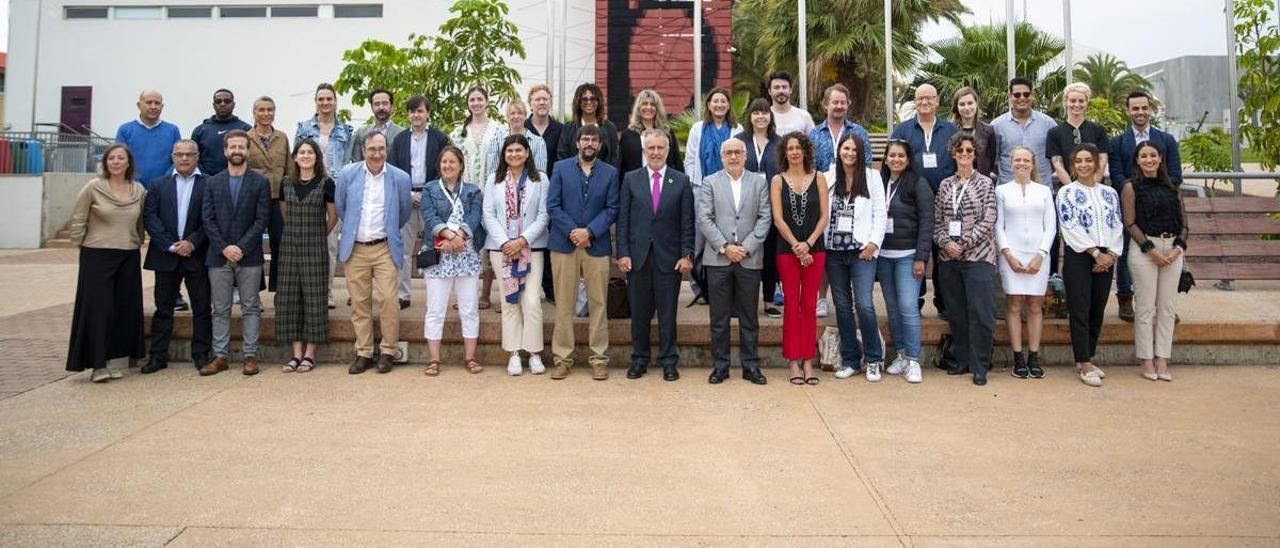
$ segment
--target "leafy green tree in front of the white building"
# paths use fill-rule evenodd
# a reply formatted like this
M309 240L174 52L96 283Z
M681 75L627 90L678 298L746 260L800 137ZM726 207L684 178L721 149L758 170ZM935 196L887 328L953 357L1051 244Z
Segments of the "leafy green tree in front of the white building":
M448 127L466 118L466 90L483 86L493 101L490 114L498 115L499 101L518 97L520 73L507 60L525 58L508 12L503 0L456 0L449 6L453 15L435 36L410 35L403 47L366 40L344 51L334 88L353 93L356 105L365 105L367 90L379 87L404 99L422 93L431 100L433 123ZM407 124L402 109L393 117Z

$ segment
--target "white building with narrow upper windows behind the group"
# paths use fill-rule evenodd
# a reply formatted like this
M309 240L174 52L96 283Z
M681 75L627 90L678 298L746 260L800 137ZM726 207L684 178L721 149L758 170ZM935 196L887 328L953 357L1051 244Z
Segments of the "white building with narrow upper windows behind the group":
M119 124L137 117L138 92L156 88L165 96L163 118L187 136L212 114L214 90L225 87L236 93L236 114L248 123L255 97L275 99L276 127L292 134L298 120L314 114L316 85L338 77L344 50L367 38L403 46L410 33L433 35L449 17L451 4L10 0L5 125L51 129L44 124L81 117L95 133L110 138ZM508 5L527 55L511 61L524 76L521 90L548 81L548 68L554 67L549 83L559 95L557 104L567 105L561 102L566 99L558 87L561 67L568 93L594 79L595 3L508 0ZM561 33L567 33L563 50ZM339 108L352 109L353 125L369 115L349 97Z

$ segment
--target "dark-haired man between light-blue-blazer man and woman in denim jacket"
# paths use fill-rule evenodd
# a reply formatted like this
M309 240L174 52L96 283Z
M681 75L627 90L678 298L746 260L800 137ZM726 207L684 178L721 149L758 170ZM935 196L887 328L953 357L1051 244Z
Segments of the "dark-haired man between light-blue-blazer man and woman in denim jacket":
M422 186L440 178L436 172L436 161L440 159L440 150L449 143L449 137L439 129L429 125L431 120L431 102L425 96L415 95L408 99L408 131L402 131L392 140L390 157L388 161L410 174L410 191L413 193L413 211L421 204ZM361 152L364 154L364 152ZM364 155L361 155L364 157ZM413 255L417 254L417 237L422 232L422 215L412 215L404 227L401 228L401 238L404 241L404 264L413 264ZM401 310L408 309L412 280L412 269L399 269Z

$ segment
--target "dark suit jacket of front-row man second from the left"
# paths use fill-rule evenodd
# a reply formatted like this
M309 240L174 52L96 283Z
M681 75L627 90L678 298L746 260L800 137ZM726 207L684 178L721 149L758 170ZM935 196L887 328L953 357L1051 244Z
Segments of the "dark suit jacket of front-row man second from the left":
M155 271L172 273L201 271L205 270L205 255L209 252L209 241L205 237L204 209L201 202L205 197L205 175L196 173L196 181L191 187L191 201L187 202L187 225L183 233L178 233L178 183L177 175L156 177L147 183L147 200L142 205L142 224L151 237L147 246L147 259L142 268ZM187 241L195 246L189 257L183 257L169 251L169 247L178 241Z

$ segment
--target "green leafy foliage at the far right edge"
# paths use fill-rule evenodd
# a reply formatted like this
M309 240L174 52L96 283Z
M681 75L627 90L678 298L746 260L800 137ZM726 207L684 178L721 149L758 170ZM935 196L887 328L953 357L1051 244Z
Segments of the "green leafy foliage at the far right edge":
M1262 169L1280 163L1280 31L1271 23L1274 0L1235 1L1235 49L1244 113L1257 115L1240 125ZM1280 195L1280 187L1276 188Z

